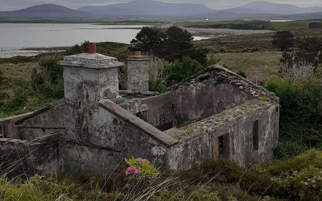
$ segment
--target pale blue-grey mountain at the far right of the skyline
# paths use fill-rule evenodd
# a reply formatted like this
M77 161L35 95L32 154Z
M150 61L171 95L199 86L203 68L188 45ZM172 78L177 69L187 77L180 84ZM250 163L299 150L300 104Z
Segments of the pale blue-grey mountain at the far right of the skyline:
M252 2L238 8L252 9L255 10L255 13L272 13L284 15L322 12L322 7L300 8L289 4L275 4L270 2Z

